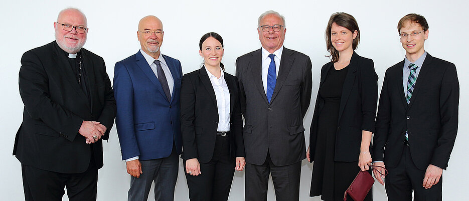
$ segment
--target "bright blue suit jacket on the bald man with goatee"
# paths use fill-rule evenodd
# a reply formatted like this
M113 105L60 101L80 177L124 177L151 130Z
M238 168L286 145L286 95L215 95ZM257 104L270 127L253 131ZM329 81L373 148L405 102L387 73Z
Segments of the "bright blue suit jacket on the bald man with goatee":
M135 156L140 160L168 157L173 142L181 154L181 62L162 56L174 79L171 100L140 51L115 64L116 128L123 160Z

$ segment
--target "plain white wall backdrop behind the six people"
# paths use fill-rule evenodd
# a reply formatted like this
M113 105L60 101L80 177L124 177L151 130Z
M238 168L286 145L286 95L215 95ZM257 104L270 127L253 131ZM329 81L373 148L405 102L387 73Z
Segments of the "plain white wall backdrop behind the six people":
M384 72L391 65L403 60L404 50L399 42L397 22L408 13L423 15L429 24L429 38L425 50L431 55L456 65L461 86L460 103L469 101L465 79L469 70L463 58L469 53L466 35L469 29L462 24L467 21L465 1L3 1L0 9L0 90L4 98L0 128L0 166L2 200L24 200L21 166L12 156L15 133L22 121L23 103L18 92L20 58L27 50L42 46L54 40L53 22L60 10L66 7L81 9L88 18L88 41L85 48L104 58L110 79L114 76L114 64L140 48L136 38L138 21L147 15L154 15L163 21L165 38L162 53L181 61L183 73L199 68L200 37L207 32L217 32L225 41L223 63L226 71L234 74L237 57L260 48L256 31L258 16L275 10L286 18L284 46L308 55L312 61L313 90L311 105L304 126L309 132L312 110L318 92L320 69L329 60L324 55L326 44L324 31L329 17L334 12L353 15L359 24L362 41L357 53L373 59L379 76L381 89ZM464 47L460 47L464 46ZM462 48L462 49L461 49ZM443 199L464 200L467 176L465 124L468 106L459 106L459 132L449 161L443 171ZM121 160L120 146L112 128L108 142L104 143L104 167L98 174L98 200L127 200L129 175ZM308 135L306 134L306 142ZM308 145L308 144L306 144ZM312 165L306 160L301 167L300 200L320 200L309 197L309 183ZM175 200L189 200L186 179L180 162ZM375 183L375 200L387 200L384 187ZM149 200L153 200L150 192ZM68 198L64 198L68 200ZM237 172L229 200L244 200L244 172ZM275 200L272 183L268 200Z

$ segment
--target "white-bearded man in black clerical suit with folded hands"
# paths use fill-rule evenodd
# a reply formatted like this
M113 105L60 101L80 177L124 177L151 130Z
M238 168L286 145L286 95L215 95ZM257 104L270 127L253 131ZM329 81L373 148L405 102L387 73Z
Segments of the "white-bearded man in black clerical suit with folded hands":
M52 43L21 58L23 123L13 154L21 162L26 200L96 200L102 140L116 104L104 60L83 49L86 17L65 9Z

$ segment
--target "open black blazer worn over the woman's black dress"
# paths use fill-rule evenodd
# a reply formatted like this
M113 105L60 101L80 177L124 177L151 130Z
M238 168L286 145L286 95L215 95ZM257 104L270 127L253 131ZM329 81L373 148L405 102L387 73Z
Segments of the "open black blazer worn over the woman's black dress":
M314 160L316 150L318 117L321 112L327 112L322 111L324 99L321 98L319 92L331 68L334 68L334 62L325 64L321 69L320 90L318 90L309 133L309 157L311 162ZM376 75L373 60L361 57L355 52L347 68L349 70L342 88L339 108L334 160L353 162L357 161L360 155L362 130L374 132L375 129L378 75Z

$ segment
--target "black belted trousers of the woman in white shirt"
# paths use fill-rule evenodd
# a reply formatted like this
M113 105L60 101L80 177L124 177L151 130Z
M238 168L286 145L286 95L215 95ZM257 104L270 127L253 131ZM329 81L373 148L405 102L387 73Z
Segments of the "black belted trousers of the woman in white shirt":
M200 163L202 174L193 176L186 173L189 198L191 201L226 201L230 194L236 160L230 157L229 136L218 136L212 160ZM184 160L186 171L186 160Z

